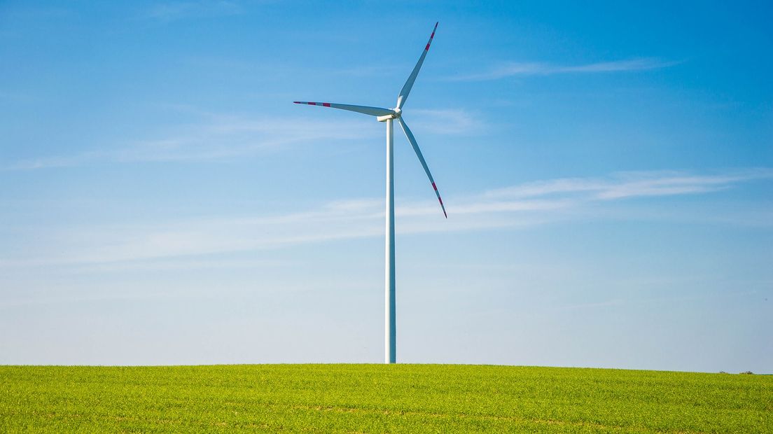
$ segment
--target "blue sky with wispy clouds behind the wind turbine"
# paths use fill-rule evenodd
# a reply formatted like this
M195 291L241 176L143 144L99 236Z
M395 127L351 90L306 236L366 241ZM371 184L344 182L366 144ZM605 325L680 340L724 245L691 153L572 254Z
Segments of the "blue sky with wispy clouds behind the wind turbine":
M3 2L0 363L773 364L766 2Z

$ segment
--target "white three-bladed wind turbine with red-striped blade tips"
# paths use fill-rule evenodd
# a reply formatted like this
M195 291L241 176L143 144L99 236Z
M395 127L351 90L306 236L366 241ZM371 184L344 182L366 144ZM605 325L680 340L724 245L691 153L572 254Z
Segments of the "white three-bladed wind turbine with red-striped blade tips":
M308 104L310 106L321 106L337 108L340 110L355 111L357 113L368 114L375 116L379 122L386 122L386 284L385 284L385 298L386 298L386 324L385 324L385 348L384 348L384 363L395 363L397 361L397 343L395 337L397 335L397 324L395 320L395 285L394 285L394 166L393 166L393 130L392 121L397 120L400 127L405 133L405 137L408 138L410 146L414 147L416 156L421 161L421 166L424 171L427 172L427 178L430 178L432 188L435 195L438 196L438 202L440 202L443 215L448 219L448 214L445 212L445 206L443 205L443 199L440 198L440 192L438 192L438 186L435 185L430 168L427 167L427 161L424 161L424 156L419 150L419 145L416 143L416 137L410 132L407 124L403 120L403 106L408 99L410 89L414 86L416 76L419 75L421 70L421 64L424 63L424 57L427 57L427 52L430 50L430 44L434 38L434 32L438 29L438 23L435 23L430 40L427 41L427 46L424 47L424 51L419 57L419 61L414 66L413 72L408 76L403 88L397 95L397 105L393 109L387 109L382 107L368 107L368 106L354 106L351 104L337 104L337 103L311 103L308 101L294 101L296 104Z

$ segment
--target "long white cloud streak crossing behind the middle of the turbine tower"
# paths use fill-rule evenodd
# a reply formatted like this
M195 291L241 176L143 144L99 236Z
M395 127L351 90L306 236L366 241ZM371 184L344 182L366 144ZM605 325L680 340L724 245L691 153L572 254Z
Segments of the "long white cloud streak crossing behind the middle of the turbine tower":
M625 207L635 198L674 195L707 195L744 183L773 179L773 168L748 168L694 174L685 171L642 171L612 174L605 178L557 178L528 182L480 192L466 197L450 196L448 220L442 219L430 198L408 202L396 210L403 234L461 232L487 229L528 229L536 225L605 219L669 218L657 201L639 202L632 212L616 214L604 205ZM724 208L723 208L724 209ZM625 208L623 208L625 211ZM220 216L145 224L90 225L66 228L58 235L39 239L29 246L29 257L0 249L0 270L28 266L61 266L91 269L123 266L158 268L165 261L196 256L245 253L341 239L383 236L383 199L363 198L329 202L318 209L259 216ZM681 222L711 222L730 225L770 225L770 209L724 209L724 215L676 209ZM765 223L767 222L767 223ZM159 264L158 261L161 261Z

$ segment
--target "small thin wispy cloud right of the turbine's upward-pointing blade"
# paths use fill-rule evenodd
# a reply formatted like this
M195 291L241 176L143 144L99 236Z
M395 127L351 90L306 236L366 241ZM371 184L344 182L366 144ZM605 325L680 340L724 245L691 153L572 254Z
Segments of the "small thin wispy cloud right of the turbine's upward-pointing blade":
M495 66L491 70L482 73L452 76L454 81L483 81L499 80L510 76L548 76L553 74L569 73L616 73L657 70L673 66L679 62L666 62L660 59L641 58L628 60L615 60L611 62L587 63L584 65L554 65L550 63L520 63L509 62Z

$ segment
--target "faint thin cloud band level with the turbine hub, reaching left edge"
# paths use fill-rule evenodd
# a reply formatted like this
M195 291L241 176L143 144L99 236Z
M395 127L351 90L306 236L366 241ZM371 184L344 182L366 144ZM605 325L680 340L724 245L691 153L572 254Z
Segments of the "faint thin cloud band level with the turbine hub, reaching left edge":
M414 131L465 134L482 127L478 117L461 109L414 112L415 116L410 120ZM452 121L449 122L449 119ZM344 117L329 122L325 117L205 114L202 120L172 127L160 137L113 147L100 146L97 150L71 155L15 161L0 167L0 171L141 161L230 161L266 152L287 151L301 144L320 141L376 141L380 134L380 128L369 124L367 117Z

